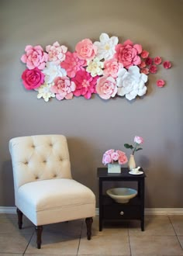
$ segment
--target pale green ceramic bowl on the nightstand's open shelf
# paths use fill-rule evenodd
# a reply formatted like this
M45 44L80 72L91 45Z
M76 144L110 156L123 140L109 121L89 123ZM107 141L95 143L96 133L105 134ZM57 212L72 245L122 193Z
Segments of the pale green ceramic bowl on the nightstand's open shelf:
M135 189L127 189L127 188L114 188L108 189L106 193L119 203L129 202L129 199L133 199L136 196L137 191Z

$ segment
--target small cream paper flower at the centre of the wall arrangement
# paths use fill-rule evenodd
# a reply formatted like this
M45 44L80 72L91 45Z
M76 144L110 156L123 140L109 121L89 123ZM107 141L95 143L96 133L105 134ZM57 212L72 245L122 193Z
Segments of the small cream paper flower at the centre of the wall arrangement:
M102 75L102 68L104 67L104 63L99 61L97 57L93 61L88 61L88 67L86 71L91 73L91 77L95 77L96 75Z

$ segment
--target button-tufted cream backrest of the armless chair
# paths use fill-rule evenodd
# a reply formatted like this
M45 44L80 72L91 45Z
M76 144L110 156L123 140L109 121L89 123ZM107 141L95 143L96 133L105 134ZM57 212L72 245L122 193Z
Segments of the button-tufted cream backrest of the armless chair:
M72 178L63 135L16 137L9 141L15 192L20 186L52 178Z

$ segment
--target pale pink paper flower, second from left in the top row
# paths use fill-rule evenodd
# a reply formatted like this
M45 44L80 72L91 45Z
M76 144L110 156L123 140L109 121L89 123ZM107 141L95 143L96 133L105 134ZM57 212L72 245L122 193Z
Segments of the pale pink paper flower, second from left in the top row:
M54 64L60 64L64 61L67 47L60 46L60 43L55 42L53 45L47 45L48 61L54 61Z

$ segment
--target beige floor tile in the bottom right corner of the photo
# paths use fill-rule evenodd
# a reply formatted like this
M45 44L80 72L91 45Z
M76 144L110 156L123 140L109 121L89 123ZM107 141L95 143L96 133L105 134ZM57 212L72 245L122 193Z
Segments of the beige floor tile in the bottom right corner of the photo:
M176 236L130 236L132 256L178 256L183 250Z

